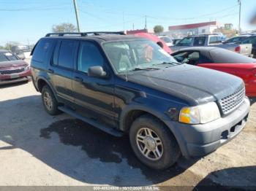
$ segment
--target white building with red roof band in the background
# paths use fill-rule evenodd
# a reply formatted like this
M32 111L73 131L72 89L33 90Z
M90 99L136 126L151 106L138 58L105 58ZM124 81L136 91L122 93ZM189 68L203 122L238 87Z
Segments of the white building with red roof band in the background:
M192 34L212 34L219 27L217 21L206 23L193 23L181 26L169 26L169 31L165 32L173 38L182 38Z

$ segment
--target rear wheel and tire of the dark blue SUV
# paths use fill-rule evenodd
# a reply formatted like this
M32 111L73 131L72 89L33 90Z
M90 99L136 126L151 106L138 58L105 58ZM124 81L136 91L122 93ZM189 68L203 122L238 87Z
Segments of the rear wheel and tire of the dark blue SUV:
M58 102L53 94L53 91L50 90L48 85L42 87L42 105L45 108L45 111L50 115L59 114Z

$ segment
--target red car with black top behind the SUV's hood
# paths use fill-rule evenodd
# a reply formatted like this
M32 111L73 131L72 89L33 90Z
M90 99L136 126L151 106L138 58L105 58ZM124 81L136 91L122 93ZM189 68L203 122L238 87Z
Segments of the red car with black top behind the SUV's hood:
M189 47L173 52L172 55L181 63L224 71L241 77L246 86L246 95L256 96L256 60L253 58L218 47Z

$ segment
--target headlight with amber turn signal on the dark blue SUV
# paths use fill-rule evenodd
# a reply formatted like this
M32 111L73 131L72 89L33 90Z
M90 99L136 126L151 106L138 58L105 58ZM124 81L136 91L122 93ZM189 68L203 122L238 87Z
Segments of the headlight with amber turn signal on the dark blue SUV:
M179 122L199 124L217 120L220 117L219 108L215 102L199 106L184 107L179 114Z

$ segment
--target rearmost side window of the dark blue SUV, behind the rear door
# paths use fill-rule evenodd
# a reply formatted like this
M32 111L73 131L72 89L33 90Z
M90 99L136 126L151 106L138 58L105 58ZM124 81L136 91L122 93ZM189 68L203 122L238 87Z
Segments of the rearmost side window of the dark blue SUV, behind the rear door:
M33 60L39 63L45 61L45 57L50 51L51 47L53 47L53 41L50 39L42 39L38 42L37 46L33 51Z

